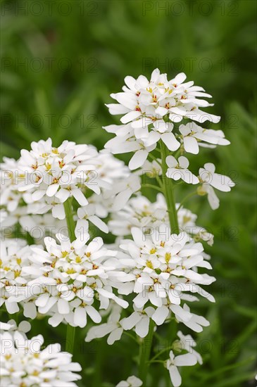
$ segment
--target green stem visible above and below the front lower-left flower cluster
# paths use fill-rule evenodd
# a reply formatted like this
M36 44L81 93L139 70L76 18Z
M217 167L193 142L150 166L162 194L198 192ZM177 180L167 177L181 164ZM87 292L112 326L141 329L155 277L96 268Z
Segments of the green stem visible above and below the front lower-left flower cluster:
M73 220L72 198L69 198L67 201L65 201L63 205L65 210L66 223L68 227L68 235L69 235L70 241L73 242L75 241L76 236L75 236L75 222ZM74 341L75 341L75 326L71 326L68 324L67 330L66 330L66 343L65 343L65 350L67 352L73 353Z

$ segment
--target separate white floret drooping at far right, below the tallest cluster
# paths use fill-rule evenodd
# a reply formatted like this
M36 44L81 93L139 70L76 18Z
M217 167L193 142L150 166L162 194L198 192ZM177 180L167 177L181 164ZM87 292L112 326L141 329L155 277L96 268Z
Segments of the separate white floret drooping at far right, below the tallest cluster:
M203 168L199 169L199 179L202 185L199 187L198 193L200 195L208 195L208 202L213 210L216 210L220 203L213 188L229 192L235 185L230 177L215 173L215 165L213 163L206 163Z

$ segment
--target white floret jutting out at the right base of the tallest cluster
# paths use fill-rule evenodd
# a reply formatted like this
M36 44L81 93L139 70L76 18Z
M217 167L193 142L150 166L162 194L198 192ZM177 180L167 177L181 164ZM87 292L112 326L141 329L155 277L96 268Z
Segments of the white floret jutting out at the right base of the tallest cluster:
M184 150L189 153L199 153L199 145L203 145L201 141L215 145L229 145L230 141L225 139L222 130L203 129L195 122L188 122L187 125L180 125L180 133L182 134Z

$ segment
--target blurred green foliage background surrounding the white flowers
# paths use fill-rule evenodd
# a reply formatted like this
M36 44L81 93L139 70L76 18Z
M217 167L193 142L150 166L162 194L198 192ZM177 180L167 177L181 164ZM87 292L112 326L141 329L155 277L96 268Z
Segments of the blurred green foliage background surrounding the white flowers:
M194 305L211 326L194 335L204 363L184 367L182 385L255 386L256 1L1 1L1 16L1 157L18 158L20 148L49 136L56 146L69 139L103 148L110 136L101 127L118 123L104 103L126 75L183 71L213 95L208 111L222 115L213 129L231 145L203 150L192 166L213 162L237 186L218 193L215 212L206 198L188 204L215 234L208 253L218 280L215 305ZM33 333L42 331L50 341L65 337L63 326L33 324ZM78 329L80 386L113 386L136 373L130 338L109 347L105 339L86 345L84 336ZM170 386L162 366L151 373L152 386Z

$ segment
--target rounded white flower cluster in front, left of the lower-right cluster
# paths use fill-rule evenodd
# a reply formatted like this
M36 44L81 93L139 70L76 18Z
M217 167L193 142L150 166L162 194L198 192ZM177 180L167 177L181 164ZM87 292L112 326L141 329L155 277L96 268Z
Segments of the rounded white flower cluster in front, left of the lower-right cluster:
M29 295L37 298L35 304L43 315L51 315L49 324L57 326L63 320L73 326L86 326L87 315L99 323L97 309L106 309L110 300L127 307L127 302L115 296L108 272L115 269L108 259L116 255L107 250L101 238L87 241L56 236L45 238L46 251L32 248L34 265L26 267L25 273L34 277L26 286ZM100 305L98 305L100 302ZM97 304L97 305L96 305Z

